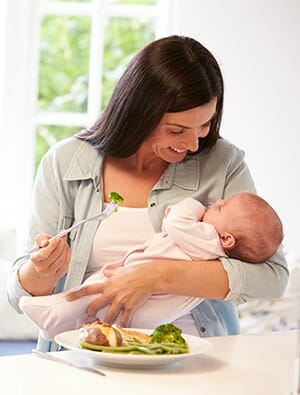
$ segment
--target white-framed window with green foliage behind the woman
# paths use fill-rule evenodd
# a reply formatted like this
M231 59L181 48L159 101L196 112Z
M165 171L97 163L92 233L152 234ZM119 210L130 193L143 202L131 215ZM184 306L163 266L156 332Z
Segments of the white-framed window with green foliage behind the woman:
M161 1L44 1L33 119L35 167L57 140L91 125L131 56L158 35Z

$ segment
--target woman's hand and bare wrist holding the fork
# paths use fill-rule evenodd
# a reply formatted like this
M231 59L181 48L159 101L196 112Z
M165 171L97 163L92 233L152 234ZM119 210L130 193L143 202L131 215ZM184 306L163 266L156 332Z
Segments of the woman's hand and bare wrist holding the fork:
M33 253L30 261L19 270L23 288L35 296L50 294L68 270L71 250L66 236L50 239L48 234L39 234L35 241L40 250Z

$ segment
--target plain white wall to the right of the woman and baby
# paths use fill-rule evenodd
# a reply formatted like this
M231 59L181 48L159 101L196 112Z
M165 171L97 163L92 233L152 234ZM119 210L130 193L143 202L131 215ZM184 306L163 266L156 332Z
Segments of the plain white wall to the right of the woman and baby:
M300 257L300 1L173 0L170 17L170 33L219 60L222 136L246 151L259 194L282 218L286 251Z

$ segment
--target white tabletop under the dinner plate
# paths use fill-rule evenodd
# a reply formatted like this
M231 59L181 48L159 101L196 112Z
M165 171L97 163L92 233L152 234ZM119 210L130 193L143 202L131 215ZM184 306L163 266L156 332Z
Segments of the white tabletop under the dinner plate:
M215 337L208 354L160 369L99 365L106 377L35 355L0 357L3 395L290 395L295 385L296 333ZM80 353L55 353L80 359ZM94 363L84 357L86 363Z

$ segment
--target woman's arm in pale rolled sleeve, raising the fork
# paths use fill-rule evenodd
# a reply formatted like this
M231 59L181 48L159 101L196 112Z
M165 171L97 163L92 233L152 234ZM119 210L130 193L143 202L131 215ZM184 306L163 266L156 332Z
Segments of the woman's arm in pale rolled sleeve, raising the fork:
M60 212L53 156L53 153L48 153L43 158L36 175L26 243L27 249L36 242L43 248L31 256L25 251L23 257L14 262L8 279L8 299L17 311L20 311L18 303L21 296L52 293L59 278L67 272L70 260L66 238L55 239L48 244L50 235L57 233ZM36 240L37 234L41 235Z

